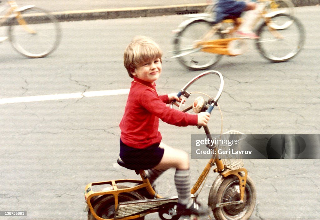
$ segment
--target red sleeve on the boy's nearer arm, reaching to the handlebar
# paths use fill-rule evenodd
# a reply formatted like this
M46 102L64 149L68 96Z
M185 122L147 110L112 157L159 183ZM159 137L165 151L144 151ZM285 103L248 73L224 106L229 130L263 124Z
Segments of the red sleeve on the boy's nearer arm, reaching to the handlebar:
M198 124L198 115L183 113L170 108L152 90L146 90L143 95L140 95L139 99L144 108L168 124L176 126Z

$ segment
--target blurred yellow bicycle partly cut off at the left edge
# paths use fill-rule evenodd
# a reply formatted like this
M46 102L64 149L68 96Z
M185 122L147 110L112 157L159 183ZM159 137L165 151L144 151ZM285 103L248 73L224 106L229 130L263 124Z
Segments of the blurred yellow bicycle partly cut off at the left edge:
M1 3L1 1L0 1ZM56 18L34 5L18 7L12 0L0 8L0 27L8 27L6 37L13 48L29 58L41 58L52 53L59 45L61 29Z

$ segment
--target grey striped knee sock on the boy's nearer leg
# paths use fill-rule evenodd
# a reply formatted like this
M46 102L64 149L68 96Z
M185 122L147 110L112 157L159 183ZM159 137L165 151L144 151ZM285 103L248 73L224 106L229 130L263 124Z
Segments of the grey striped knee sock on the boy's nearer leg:
M190 194L190 170L176 169L174 183L178 192L178 202L189 207L192 204Z

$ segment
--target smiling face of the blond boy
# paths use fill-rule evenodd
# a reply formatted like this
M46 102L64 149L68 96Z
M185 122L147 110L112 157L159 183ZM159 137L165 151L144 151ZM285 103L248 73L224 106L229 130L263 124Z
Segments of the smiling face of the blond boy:
M156 58L137 67L132 75L143 81L154 83L159 78L161 70L161 61L159 58Z

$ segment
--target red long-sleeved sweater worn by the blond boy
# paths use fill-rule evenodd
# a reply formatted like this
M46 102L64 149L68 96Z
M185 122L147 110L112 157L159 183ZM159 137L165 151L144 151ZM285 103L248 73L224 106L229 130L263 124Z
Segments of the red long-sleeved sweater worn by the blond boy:
M156 83L134 77L120 122L121 140L134 148L146 148L161 142L159 118L176 126L197 125L198 115L172 109L167 95L159 96Z

